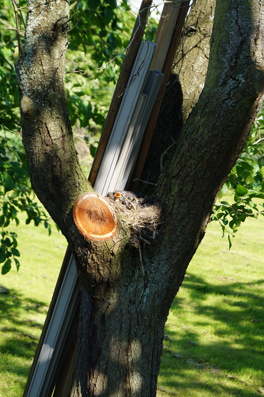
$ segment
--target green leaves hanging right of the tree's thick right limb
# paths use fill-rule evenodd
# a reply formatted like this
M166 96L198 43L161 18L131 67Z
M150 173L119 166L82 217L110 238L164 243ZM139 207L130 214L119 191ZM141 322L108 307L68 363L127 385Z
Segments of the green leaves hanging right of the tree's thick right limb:
M264 216L264 202L261 204L256 201L256 199L264 199L263 118L262 109L256 118L247 144L222 187L218 196L219 203L215 204L212 212L211 220L220 222L223 237L226 231L228 233L229 249L232 245L230 236L234 237L241 222L245 222L249 217L258 218L260 214ZM231 203L221 200L228 189L234 189Z

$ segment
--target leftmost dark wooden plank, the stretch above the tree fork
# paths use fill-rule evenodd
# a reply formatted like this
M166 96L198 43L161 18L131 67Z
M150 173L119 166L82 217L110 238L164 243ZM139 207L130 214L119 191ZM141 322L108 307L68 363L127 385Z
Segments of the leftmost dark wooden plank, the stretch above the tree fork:
M144 29L145 29L145 25L146 25L146 21L147 21L148 10L149 10L149 7L151 6L151 3L152 3L152 0L143 0L140 5L138 17L136 19L136 23L135 23L135 26L134 26L134 29L132 32L132 36L130 39L130 45L128 47L128 50L126 51L126 56L124 58L124 62L121 67L119 79L118 79L117 85L115 87L115 92L113 94L113 98L112 98L112 101L111 101L111 104L109 107L109 111L107 113L107 118L105 120L105 125L104 125L103 131L101 133L98 148L96 150L96 155L94 157L94 161L93 161L92 168L90 171L89 181L92 186L94 185L94 182L96 180L96 176L99 171L101 161L103 159L105 148L107 146L113 125L115 123L115 119L117 117L119 106L122 101L122 94L124 93L124 90L126 89L126 85L128 83L128 79L129 79L132 67L134 65L134 61L138 54L138 49L142 42ZM139 17L139 15L140 15L140 17Z

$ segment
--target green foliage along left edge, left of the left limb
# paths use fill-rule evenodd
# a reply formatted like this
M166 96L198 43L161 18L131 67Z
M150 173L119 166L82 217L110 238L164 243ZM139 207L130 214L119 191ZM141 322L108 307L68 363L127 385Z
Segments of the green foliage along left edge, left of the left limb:
M22 3L21 3L22 4ZM50 234L49 217L34 201L29 169L20 133L19 93L14 69L14 49L17 44L15 18L10 4L0 1L2 25L0 31L0 264L2 274L14 263L19 269L17 235L12 229L19 224L19 214L27 214L26 224L43 223ZM13 224L12 224L13 222Z

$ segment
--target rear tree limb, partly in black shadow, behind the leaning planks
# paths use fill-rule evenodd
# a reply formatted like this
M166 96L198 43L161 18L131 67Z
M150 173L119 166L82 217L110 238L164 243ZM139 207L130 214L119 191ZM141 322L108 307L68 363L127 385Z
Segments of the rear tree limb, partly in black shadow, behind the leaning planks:
M162 153L168 148L168 142L177 141L183 124L199 99L207 75L215 2L196 0L187 17L145 162L143 180L157 182ZM142 189L143 184L139 191ZM151 194L150 186L147 191Z

